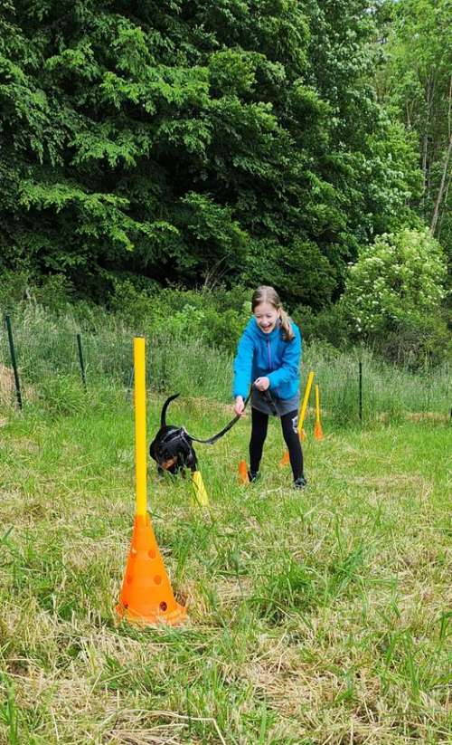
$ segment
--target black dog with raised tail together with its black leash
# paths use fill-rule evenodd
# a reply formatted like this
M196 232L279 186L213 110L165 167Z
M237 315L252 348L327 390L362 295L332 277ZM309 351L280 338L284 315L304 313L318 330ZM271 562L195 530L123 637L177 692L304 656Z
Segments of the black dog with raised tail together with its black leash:
M221 429L221 432L217 433L217 435L213 435L213 437L209 437L207 440L200 440L199 437L189 435L184 427L166 424L166 409L177 396L180 396L180 394L176 393L174 396L169 396L166 399L162 408L162 414L160 415L160 429L149 447L149 454L157 463L158 473L163 473L164 471L173 474L184 473L186 468L189 468L194 473L197 471L198 461L194 452L193 442L203 444L216 443L240 419L240 416L234 416L231 422ZM248 404L249 399L250 396L246 399L245 406Z

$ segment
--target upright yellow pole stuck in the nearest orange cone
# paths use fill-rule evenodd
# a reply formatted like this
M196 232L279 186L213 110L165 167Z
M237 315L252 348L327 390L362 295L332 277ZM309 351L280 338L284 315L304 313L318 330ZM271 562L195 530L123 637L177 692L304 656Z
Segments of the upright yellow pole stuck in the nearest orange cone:
M146 347L144 337L134 338L135 368L135 469L137 474L137 515L146 516Z

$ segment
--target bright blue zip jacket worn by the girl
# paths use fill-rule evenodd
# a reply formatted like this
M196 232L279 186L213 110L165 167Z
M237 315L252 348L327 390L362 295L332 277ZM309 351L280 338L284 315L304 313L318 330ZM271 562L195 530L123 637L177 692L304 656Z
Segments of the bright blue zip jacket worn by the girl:
M248 396L257 377L268 377L269 390L278 398L295 396L300 385L301 334L290 321L295 339L284 341L277 324L270 334L259 329L254 316L243 331L234 359L233 395Z

